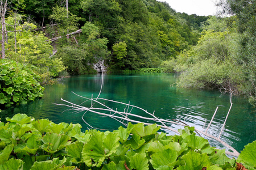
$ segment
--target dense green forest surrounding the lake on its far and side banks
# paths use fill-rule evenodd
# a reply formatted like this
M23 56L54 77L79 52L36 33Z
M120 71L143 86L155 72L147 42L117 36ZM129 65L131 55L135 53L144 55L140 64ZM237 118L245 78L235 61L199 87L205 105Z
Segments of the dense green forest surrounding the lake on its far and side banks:
M255 1L220 1L229 17L181 14L156 0L0 2L0 104L41 97L42 84L68 74L159 67L181 73L177 86L256 104Z

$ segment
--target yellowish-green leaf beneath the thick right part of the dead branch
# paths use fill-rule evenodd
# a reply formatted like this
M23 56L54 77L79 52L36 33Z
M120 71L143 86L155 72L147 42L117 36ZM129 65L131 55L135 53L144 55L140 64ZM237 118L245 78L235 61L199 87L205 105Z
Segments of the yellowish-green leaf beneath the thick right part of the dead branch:
M204 139L203 137L198 137L195 134L188 135L183 139L182 142L187 143L188 147L191 147L192 150L201 149L209 143L207 139Z

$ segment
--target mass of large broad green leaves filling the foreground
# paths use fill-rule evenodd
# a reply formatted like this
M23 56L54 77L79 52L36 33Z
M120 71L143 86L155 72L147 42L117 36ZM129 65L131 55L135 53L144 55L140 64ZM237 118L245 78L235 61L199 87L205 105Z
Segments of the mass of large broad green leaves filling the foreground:
M129 124L118 130L81 131L79 124L54 124L16 114L0 122L0 169L237 169L225 150L210 147L194 128L180 135L158 133L156 125ZM238 161L255 169L256 142ZM241 164L238 164L241 165Z

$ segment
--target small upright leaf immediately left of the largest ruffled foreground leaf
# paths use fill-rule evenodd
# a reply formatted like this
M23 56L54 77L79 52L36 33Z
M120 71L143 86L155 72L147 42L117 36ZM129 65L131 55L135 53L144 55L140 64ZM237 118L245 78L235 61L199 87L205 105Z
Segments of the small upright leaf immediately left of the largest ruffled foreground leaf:
M71 143L68 145L65 150L68 152L67 155L71 156L71 161L73 163L81 163L82 162L82 147L84 143L76 141L75 143Z

